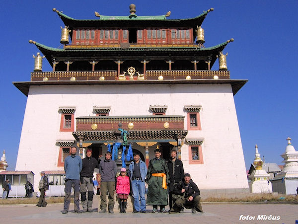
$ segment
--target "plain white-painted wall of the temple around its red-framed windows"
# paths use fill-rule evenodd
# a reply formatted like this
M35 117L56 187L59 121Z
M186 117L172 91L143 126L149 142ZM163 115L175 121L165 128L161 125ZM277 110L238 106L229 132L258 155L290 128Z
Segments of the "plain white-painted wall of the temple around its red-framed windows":
M185 105L201 105L202 130L189 131L186 138L204 138L204 164L189 164L188 146L183 145L185 171L201 189L248 188L230 84L31 86L16 170L32 170L39 175L42 170L63 169L57 166L59 147L55 145L56 140L74 140L74 137L71 132L60 132L59 107L75 106L74 117L94 116L93 106L111 106L110 116L128 116L151 115L150 105L167 105L166 115L184 116ZM186 129L186 117L184 126ZM145 156L145 149L140 151ZM150 158L153 154L149 150ZM39 178L34 179L37 188Z

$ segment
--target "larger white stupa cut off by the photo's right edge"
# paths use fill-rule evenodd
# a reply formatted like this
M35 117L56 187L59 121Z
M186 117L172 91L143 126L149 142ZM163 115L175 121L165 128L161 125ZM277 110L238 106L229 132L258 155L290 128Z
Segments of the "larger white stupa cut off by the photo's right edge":
M281 155L285 163L281 173L272 180L272 189L280 194L296 194L298 187L298 151L291 144L291 138L287 139L286 151Z

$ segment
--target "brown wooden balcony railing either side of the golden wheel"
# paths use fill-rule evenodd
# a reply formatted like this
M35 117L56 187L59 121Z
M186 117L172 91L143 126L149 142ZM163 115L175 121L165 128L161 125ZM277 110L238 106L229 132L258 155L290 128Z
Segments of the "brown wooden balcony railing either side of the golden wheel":
M186 76L190 76L191 79L213 79L215 75L219 79L229 79L229 71L211 71L211 70L156 70L146 71L144 75L145 80L158 80L158 76L162 75L163 80L182 80L186 79ZM100 80L100 77L104 77L104 80L119 80L117 71L70 71L70 72L32 72L31 81L69 81L69 80ZM126 79L129 80L129 75L126 75ZM137 74L134 76L134 80L137 80Z

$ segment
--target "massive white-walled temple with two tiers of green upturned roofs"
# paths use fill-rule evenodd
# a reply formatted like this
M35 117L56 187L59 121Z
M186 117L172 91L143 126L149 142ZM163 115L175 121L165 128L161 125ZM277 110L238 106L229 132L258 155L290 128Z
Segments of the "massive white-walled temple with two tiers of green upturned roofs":
M110 149L119 167L130 151L148 164L158 146L165 159L176 149L205 192L249 191L233 97L247 80L230 79L223 51L233 39L204 46L213 8L183 19L139 16L134 4L127 16L94 19L53 11L63 48L30 40L41 52L31 80L13 82L27 96L16 170L47 170L63 184L73 145L82 157ZM53 71L42 71L45 60Z

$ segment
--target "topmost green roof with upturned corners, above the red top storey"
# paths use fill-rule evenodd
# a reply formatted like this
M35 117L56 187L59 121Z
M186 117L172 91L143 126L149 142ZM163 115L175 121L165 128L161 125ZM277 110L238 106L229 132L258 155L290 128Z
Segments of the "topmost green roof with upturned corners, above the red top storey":
M66 26L70 29L78 27L197 27L201 26L208 12L213 11L213 8L204 11L202 14L186 19L166 19L167 15L157 16L105 16L100 15L98 19L74 19L63 12L53 8L57 12ZM96 14L96 12L95 12Z

